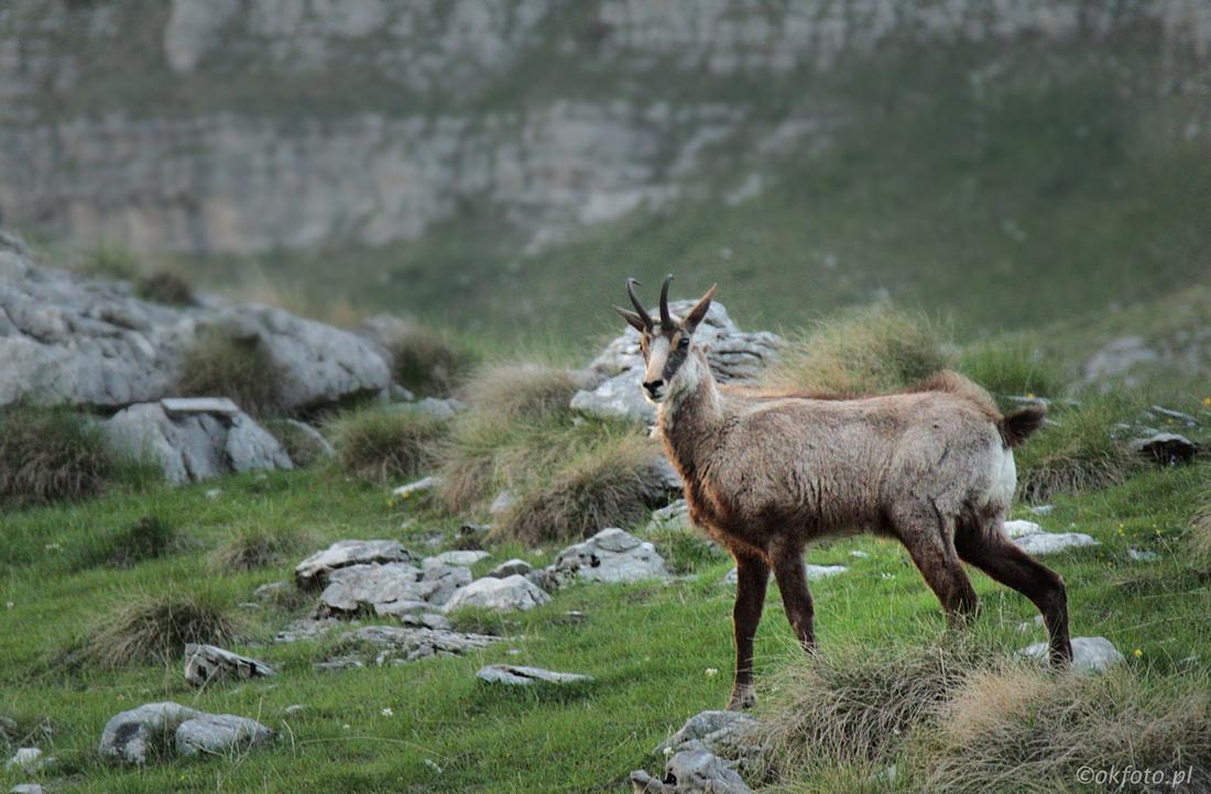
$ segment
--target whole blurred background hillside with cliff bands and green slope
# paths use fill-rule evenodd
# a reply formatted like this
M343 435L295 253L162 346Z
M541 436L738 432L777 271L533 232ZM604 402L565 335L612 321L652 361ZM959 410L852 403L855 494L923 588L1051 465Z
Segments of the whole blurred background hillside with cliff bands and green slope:
M1209 58L1209 0L6 0L0 226L504 340L672 271L1199 370Z

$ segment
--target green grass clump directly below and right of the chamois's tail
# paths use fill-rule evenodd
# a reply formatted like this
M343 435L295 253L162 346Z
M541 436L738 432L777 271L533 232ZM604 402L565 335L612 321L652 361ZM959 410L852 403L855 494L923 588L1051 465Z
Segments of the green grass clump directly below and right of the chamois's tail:
M1117 425L1129 412L1119 401L1086 395L1077 404L1052 403L1048 424L1014 451L1018 495L1045 501L1125 482L1142 462Z

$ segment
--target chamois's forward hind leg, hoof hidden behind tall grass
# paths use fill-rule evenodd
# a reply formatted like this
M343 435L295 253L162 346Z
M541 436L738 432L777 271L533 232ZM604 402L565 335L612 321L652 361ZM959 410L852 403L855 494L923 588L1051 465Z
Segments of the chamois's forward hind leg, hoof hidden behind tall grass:
M980 599L955 554L954 518L925 502L895 511L891 523L912 562L942 602L947 622L962 627L978 611Z

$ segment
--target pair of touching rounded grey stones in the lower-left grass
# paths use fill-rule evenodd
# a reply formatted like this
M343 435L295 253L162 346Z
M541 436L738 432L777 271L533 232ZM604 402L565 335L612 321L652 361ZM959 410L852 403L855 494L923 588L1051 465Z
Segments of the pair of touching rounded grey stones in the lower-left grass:
M147 703L109 720L102 732L102 758L147 764L178 755L226 754L265 744L274 732L245 717L207 714L179 703Z

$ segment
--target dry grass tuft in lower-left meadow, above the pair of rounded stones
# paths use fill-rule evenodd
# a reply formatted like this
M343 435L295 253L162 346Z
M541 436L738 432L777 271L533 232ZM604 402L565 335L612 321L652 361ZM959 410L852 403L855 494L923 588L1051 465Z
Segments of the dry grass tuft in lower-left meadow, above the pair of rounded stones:
M139 594L96 621L84 657L103 667L167 664L180 660L189 643L225 645L239 633L229 610L213 599Z

